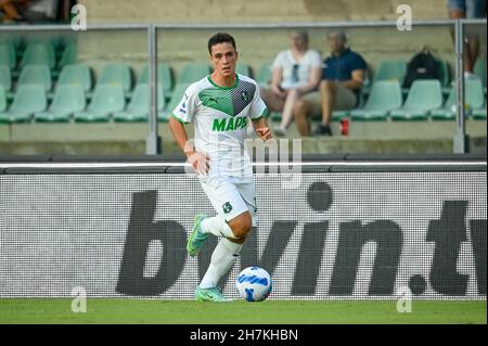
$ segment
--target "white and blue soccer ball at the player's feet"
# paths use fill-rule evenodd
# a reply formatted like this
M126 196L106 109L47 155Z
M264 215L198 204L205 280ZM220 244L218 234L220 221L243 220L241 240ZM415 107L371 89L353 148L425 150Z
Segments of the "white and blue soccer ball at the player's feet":
M259 267L242 270L235 280L239 295L247 302L262 302L271 293L271 277Z

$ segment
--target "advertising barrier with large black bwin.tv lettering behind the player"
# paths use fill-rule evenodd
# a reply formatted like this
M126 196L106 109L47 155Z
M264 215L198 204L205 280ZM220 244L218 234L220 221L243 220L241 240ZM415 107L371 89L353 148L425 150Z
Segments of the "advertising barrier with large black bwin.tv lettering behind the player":
M304 157L299 183L256 172L258 265L271 299L486 300L486 157ZM255 168L258 165L255 163ZM0 157L0 297L191 299L217 240L191 258L198 212L215 215L177 158Z

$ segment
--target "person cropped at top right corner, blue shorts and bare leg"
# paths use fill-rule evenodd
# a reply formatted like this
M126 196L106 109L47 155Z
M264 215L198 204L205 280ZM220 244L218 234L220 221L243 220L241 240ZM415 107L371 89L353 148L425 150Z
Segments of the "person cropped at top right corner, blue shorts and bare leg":
M448 0L449 17L481 18L486 15L486 0ZM454 33L451 30L452 38ZM474 64L479 55L479 38L466 30L464 47L464 77L476 78L473 74Z

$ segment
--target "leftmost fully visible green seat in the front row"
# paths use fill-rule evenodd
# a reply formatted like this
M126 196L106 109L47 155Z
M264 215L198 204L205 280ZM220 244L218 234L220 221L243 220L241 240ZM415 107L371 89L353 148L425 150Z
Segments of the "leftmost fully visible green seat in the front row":
M40 85L20 86L9 111L0 113L0 123L26 123L48 105L46 90Z

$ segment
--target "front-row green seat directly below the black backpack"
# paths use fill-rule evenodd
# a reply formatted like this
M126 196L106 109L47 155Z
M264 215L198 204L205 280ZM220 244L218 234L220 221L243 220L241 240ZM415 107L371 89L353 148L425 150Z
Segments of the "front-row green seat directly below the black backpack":
M390 112L394 120L425 120L432 110L442 104L442 91L437 79L414 80L409 90L407 101Z

